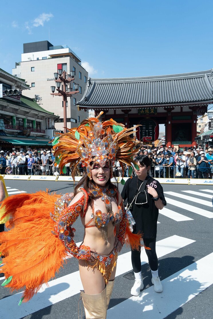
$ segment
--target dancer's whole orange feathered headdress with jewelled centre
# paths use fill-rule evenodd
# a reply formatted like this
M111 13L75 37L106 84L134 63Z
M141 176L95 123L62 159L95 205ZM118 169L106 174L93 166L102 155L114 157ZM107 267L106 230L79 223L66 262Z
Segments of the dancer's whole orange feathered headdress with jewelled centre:
M131 167L131 163L134 163L133 154L137 152L134 148L140 142L130 135L138 125L126 129L123 124L118 124L113 119L99 122L102 114L103 112L100 112L96 118L82 121L77 128L67 129L68 133L60 134L52 142L55 149L55 165L58 164L60 171L65 173L65 164L70 163L73 180L80 162L86 166L90 179L92 179L91 169L95 163L104 167L108 162L111 178L116 159L122 167L123 176L126 164Z

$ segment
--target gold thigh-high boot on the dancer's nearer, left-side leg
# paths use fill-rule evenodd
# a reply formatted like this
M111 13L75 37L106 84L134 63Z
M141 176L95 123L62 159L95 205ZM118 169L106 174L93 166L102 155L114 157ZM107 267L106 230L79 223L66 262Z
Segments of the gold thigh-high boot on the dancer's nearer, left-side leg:
M106 287L102 293L87 295L81 291L86 319L106 319L107 298Z

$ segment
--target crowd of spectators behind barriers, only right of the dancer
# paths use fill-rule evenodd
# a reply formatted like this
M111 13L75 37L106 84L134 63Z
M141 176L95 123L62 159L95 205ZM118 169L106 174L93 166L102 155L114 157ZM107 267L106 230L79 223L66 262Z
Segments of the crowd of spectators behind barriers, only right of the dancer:
M177 150L175 147L142 146L135 154L147 155L150 159L150 176L162 178L212 178L213 155L209 146L205 152L202 145L194 148L185 147ZM116 176L122 175L119 162L115 162L113 170ZM133 170L134 174L134 170ZM125 176L129 175L128 167L125 168Z

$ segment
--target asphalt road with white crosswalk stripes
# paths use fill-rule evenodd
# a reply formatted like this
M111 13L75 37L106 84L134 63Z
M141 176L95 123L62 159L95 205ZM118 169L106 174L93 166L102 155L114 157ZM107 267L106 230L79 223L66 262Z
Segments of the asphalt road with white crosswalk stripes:
M7 180L6 186L9 193L35 192L47 188L58 194L73 191L73 183L70 182ZM119 190L122 187L119 184ZM109 319L213 318L213 188L209 185L164 184L163 189L168 211L159 214L156 251L164 292L153 293L150 269L144 262L141 266L144 290L139 297L132 297L133 272L131 268L122 272L121 264L119 271L117 269L118 276L110 300ZM80 242L83 236L80 219L74 227L78 229L75 241ZM128 256L128 252L129 248L124 247L118 261ZM126 264L129 256L124 260ZM78 262L71 258L67 263L56 275L56 282L52 286L20 307L17 306L20 296L9 297L8 289L0 287L0 318L78 318L79 293L70 291L70 287L79 285L75 281Z

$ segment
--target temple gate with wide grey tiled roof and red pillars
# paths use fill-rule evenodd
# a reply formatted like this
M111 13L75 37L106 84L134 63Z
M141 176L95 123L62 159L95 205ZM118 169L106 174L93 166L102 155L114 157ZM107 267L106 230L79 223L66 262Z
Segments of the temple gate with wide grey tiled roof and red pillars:
M80 110L104 112L126 127L141 124L138 139L151 144L159 124L166 126L166 145L195 146L197 116L213 103L213 69L140 78L89 78Z

